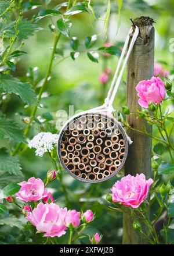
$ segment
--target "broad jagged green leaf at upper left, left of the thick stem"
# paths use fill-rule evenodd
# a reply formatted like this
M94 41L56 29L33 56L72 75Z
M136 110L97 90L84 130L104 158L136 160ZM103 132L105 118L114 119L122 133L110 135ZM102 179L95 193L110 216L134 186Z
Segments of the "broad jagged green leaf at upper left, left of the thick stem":
M28 39L28 35L33 35L34 31L38 29L36 24L32 24L30 20L23 19L17 24L18 34L20 39Z

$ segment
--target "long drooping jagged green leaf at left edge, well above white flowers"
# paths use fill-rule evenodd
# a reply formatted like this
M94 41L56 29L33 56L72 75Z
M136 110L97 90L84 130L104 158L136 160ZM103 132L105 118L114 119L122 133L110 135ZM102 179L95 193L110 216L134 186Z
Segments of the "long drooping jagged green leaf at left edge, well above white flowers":
M11 74L0 75L0 88L6 93L14 93L21 97L24 102L30 105L37 104L37 97L31 85L23 83Z

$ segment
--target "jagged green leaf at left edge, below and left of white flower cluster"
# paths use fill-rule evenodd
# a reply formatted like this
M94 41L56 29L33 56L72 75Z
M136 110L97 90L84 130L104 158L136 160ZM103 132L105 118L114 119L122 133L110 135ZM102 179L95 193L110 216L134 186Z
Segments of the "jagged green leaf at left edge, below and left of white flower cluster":
M16 176L23 176L19 160L10 156L4 148L0 150L0 170Z

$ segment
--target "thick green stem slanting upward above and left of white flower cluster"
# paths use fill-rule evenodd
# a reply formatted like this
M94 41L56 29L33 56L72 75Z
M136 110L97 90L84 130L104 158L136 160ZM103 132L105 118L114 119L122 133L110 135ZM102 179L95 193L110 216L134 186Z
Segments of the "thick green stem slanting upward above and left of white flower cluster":
M56 35L56 34L54 35L54 42L53 42L52 54L51 54L51 56L50 56L50 62L49 62L49 66L48 66L48 70L47 70L47 73L46 73L44 82L43 82L42 87L40 88L40 91L39 91L39 94L38 94L38 102L41 100L42 93L43 93L43 91L44 91L44 89L45 89L46 83L47 83L47 81L48 81L48 77L50 76L50 73L51 73L51 70L52 70L53 58L54 58L54 55L55 55L57 43L58 43L59 40L60 40L60 36L61 36L61 33L59 33L59 34L57 34L57 35ZM31 123L32 123L32 121L34 120L34 116L35 116L35 113L37 112L37 109L38 109L38 105L35 105L34 108L33 108L32 111L31 111L30 122L28 123L26 129L24 130L24 136L27 136L27 134L28 134L28 132L29 132L29 130L30 130ZM16 153L19 151L19 149L20 149L20 147L21 147L22 144L23 144L23 143L17 144L17 146L16 146L16 148L14 149L12 155L16 155Z

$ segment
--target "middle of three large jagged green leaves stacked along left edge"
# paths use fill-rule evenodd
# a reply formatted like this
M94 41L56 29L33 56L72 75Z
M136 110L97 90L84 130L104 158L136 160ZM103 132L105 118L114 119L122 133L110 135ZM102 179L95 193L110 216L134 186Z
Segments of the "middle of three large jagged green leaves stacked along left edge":
M0 116L0 139L5 137L12 138L19 143L26 142L23 137L23 131L17 123L13 120L6 119L4 116Z

